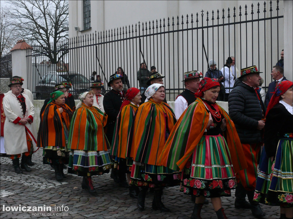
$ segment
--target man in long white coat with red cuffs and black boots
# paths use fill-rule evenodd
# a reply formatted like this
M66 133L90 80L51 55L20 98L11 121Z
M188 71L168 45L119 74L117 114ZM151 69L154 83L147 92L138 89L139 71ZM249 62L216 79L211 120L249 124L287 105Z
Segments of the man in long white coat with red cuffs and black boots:
M31 171L27 165L29 156L37 150L33 117L35 114L33 103L28 95L22 94L22 78L13 78L8 85L11 93L3 98L5 113L4 147L6 154L10 154L16 173ZM19 158L21 157L21 168Z

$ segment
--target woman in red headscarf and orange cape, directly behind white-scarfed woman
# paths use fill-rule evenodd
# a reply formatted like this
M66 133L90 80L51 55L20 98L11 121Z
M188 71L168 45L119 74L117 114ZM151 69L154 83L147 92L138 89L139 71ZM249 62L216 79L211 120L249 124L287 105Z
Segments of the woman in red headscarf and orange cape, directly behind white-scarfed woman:
M111 154L115 158L114 168L118 168L118 177L121 187L129 187L130 173L133 164L132 158L127 157L128 136L133 124L134 114L139 107L142 96L137 88L129 88L125 94L125 99L120 107L120 112L117 116ZM127 173L127 182L125 173ZM132 198L137 198L137 187L129 187L129 195Z

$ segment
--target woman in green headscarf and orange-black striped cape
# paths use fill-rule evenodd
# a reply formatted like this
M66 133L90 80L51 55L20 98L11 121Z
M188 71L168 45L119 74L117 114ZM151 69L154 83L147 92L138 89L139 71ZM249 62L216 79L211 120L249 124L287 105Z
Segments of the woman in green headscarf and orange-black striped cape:
M60 181L66 178L63 166L69 160L68 129L73 113L62 91L55 91L50 97L41 115L37 145L43 147L43 163L52 164L56 180Z

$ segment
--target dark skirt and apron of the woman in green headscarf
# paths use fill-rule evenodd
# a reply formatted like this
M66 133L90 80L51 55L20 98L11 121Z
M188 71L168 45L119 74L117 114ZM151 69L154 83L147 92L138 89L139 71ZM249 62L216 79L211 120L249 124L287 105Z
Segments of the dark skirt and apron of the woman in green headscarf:
M69 151L67 150L68 128L63 122L65 147L47 146L43 147L43 164L68 164Z

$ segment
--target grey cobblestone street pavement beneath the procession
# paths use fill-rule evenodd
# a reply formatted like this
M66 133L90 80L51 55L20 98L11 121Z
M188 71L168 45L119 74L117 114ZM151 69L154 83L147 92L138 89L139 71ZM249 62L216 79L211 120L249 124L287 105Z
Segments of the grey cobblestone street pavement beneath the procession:
M128 189L119 187L110 173L93 176L98 191L91 196L81 189L82 178L67 174L62 182L55 180L54 170L42 164L42 150L33 155L31 172L14 173L11 159L1 157L0 174L0 217L2 218L190 218L193 203L190 196L179 192L178 187L164 189L163 203L171 212L154 211L151 208L153 194L148 193L145 210L139 211L136 199L129 196ZM67 172L67 170L65 171ZM234 208L234 192L231 197L222 198L228 218L254 218L250 210ZM4 208L5 205L5 209ZM46 206L51 211L6 211L7 206ZM63 205L63 210L62 210ZM54 211L57 207L57 211ZM265 218L280 218L280 208L262 205ZM60 210L61 209L61 210ZM62 215L63 214L63 215ZM217 218L211 203L205 205L202 218Z

